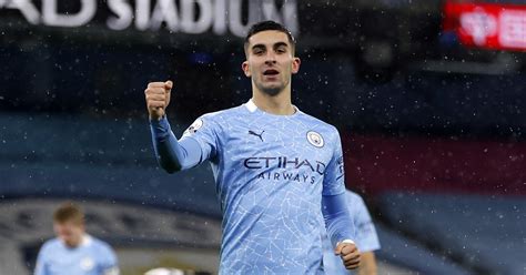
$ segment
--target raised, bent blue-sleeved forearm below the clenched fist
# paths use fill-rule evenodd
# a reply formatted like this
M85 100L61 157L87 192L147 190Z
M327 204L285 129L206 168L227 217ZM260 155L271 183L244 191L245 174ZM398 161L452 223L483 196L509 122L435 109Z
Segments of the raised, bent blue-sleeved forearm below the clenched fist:
M178 141L165 118L151 120L153 149L159 164L169 173L195 166L201 162L202 153L199 143L193 139Z

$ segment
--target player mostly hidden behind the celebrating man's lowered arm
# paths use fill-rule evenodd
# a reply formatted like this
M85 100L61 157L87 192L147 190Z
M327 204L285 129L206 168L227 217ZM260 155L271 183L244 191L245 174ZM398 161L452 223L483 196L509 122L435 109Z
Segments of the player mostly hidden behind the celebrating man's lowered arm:
M358 275L375 275L376 259L374 257L374 251L380 249L378 235L376 235L376 228L371 220L371 214L367 211L362 197L352 192L346 191L347 207L353 217L354 227L356 228L355 242L361 252L360 268L356 271ZM324 231L325 232L325 231ZM351 271L345 269L338 256L335 256L331 248L331 241L324 234L323 243L323 266L326 274L352 274Z

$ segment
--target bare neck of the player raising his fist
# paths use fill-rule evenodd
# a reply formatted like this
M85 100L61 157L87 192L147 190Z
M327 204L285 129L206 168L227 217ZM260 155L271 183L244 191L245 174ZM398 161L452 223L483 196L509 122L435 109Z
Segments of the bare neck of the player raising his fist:
M257 109L271 114L291 115L296 112L291 102L291 85L287 85L283 91L274 96L253 86L252 101Z

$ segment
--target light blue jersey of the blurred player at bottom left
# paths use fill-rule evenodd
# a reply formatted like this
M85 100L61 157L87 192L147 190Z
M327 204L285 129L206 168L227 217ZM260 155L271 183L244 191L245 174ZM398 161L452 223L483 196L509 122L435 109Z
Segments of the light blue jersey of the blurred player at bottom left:
M59 238L42 245L34 275L118 275L119 266L112 248L104 242L85 235L74 248Z

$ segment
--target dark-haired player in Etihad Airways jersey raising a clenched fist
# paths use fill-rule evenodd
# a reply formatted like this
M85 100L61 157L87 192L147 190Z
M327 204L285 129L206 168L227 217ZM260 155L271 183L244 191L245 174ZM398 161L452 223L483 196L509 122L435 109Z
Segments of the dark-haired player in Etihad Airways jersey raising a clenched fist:
M282 24L252 26L242 63L252 99L202 115L179 141L165 115L173 83L151 82L144 91L160 165L170 173L212 165L223 212L221 274L323 274L324 222L343 264L360 264L340 134L292 104L294 50Z

